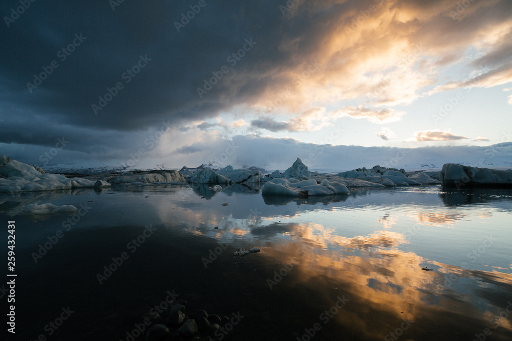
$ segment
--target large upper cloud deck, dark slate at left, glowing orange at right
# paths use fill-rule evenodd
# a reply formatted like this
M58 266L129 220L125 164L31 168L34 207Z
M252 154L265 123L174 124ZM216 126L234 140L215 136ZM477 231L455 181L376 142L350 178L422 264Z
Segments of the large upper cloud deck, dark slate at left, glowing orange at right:
M369 82L364 75L368 65L375 65L375 72L387 70L390 65L382 60L402 51L390 50L393 47L410 46L414 51L413 46L422 44L425 53L442 63L458 60L487 32L501 40L486 42L492 48L476 63L489 67L472 86L510 79L510 43L508 36L498 34L510 31L508 0L472 2L455 18L449 13L457 6L453 0L300 1L290 11L280 8L286 1L199 3L124 1L113 9L107 0L39 0L13 14L19 1L2 2L0 145L16 145L20 151L23 146L47 148L69 136L75 143L67 146L70 150L127 158L140 148L160 151L153 140L146 143L152 132L169 127L193 132L200 121L235 105L261 108L283 94L283 106L301 116L278 122L272 112L265 112L269 118L258 116L252 126L313 130L316 126L308 123L329 123L322 121L321 112L305 111L312 104L322 105L316 102L366 98L377 92L379 100L414 99L420 86L416 84L432 81L427 76L411 83L397 78L393 84L398 85L384 88L378 87L378 77ZM370 8L375 11L368 12ZM355 25L367 12L371 15ZM175 22L182 20L177 28ZM352 108L358 110L338 110L336 117L383 123L402 115L356 105Z

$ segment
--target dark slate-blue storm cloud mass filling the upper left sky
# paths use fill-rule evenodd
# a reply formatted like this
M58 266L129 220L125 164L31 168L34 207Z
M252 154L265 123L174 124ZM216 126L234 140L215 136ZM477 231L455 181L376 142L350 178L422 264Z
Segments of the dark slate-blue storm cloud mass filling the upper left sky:
M278 4L197 4L123 2L113 11L106 1L31 3L2 27L3 116L21 115L27 122L3 131L0 142L34 143L20 131L37 129L33 115L71 126L137 130L164 119L174 124L213 117L257 92L262 82L242 84L227 97L225 91L240 84L221 80L202 98L197 88L223 66L229 70L223 78L232 80L235 73L258 69L254 61L269 51L275 61L287 58L275 51L280 33L273 29L283 19ZM3 16L18 5L4 2ZM182 14L189 6L200 11L186 24ZM186 25L178 32L175 21ZM35 79L41 73L45 79ZM94 110L93 104L104 107Z

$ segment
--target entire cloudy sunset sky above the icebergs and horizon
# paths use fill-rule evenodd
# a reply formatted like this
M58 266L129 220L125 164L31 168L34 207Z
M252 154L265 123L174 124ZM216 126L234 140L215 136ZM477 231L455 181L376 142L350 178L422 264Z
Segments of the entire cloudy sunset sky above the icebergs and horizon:
M0 154L33 165L342 170L512 141L508 0L0 11Z

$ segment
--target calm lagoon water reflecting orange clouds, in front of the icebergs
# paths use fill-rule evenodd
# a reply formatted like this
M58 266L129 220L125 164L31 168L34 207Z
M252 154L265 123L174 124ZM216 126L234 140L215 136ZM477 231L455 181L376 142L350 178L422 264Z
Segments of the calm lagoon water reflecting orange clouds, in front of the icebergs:
M33 202L81 210L20 213ZM0 197L2 339L142 340L137 325L147 330L158 309L165 319L173 294L187 313L238 316L225 340L510 340L511 221L510 190L439 186L315 199L243 186ZM251 247L261 252L233 256Z

